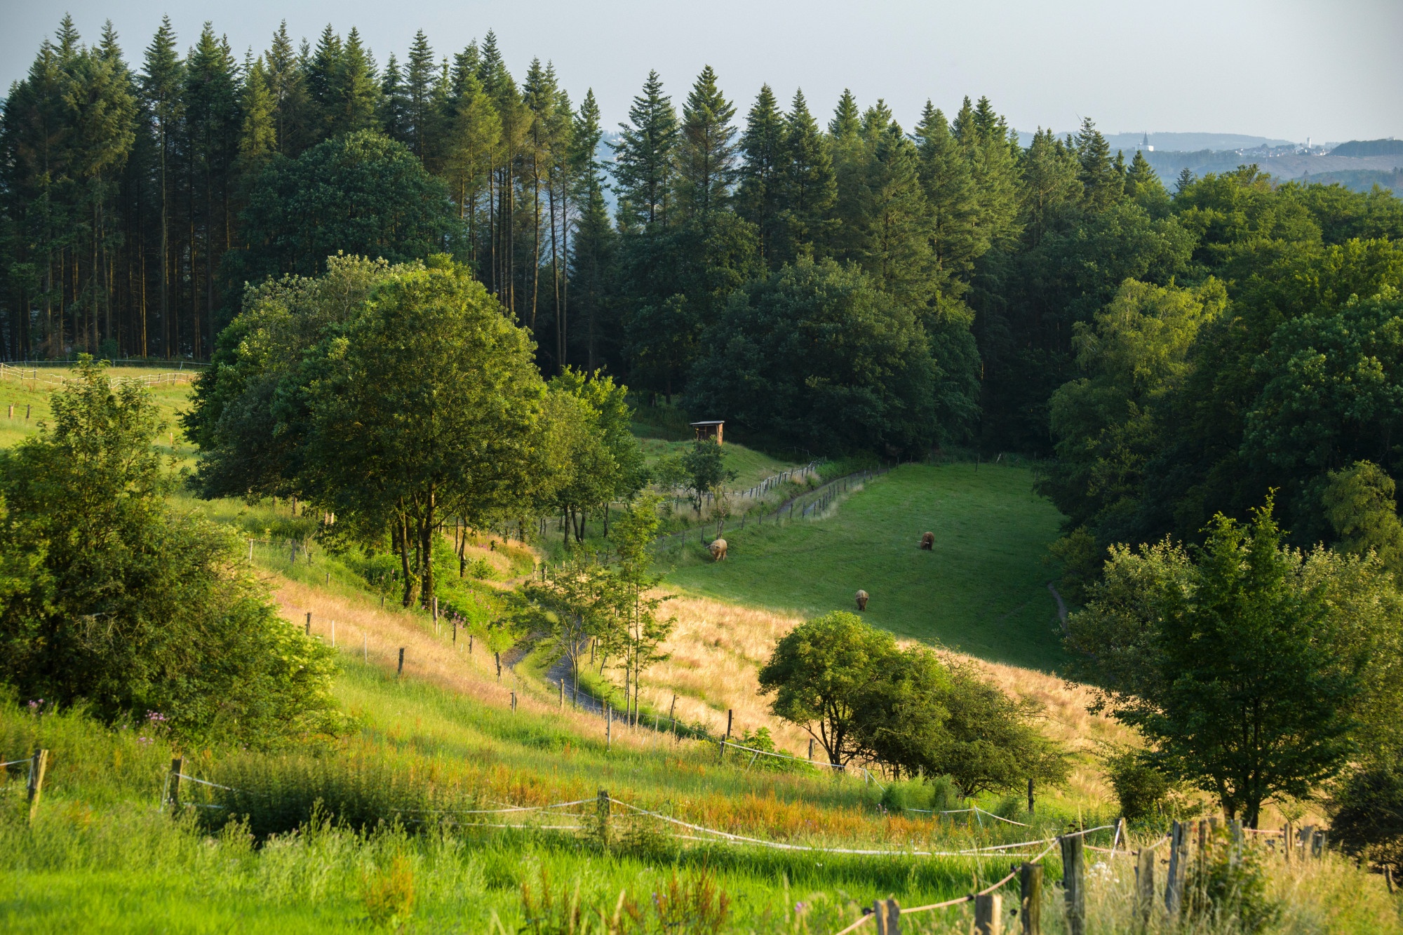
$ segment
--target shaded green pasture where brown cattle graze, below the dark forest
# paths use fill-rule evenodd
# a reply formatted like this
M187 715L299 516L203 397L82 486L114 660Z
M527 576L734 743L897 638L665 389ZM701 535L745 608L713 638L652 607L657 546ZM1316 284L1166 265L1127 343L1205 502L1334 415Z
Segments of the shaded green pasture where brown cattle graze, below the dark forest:
M666 583L724 601L817 615L856 609L898 636L1055 671L1063 661L1042 564L1061 514L1024 468L906 465L812 522L727 528L713 563L689 538ZM936 533L932 552L918 549Z

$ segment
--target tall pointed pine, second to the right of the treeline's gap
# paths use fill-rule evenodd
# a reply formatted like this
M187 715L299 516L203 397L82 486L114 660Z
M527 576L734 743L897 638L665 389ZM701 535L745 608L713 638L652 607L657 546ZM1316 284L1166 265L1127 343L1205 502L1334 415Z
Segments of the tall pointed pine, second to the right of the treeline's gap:
M716 86L716 72L702 69L682 108L678 139L678 206L686 216L707 218L731 199L735 184L735 107Z

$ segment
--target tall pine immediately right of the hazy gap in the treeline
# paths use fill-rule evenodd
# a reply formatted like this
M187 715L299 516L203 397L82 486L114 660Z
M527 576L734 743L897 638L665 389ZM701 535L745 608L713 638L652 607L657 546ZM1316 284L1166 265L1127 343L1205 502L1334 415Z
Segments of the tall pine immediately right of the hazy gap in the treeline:
M662 79L648 72L643 94L629 108L630 124L620 124L615 145L615 181L619 216L627 225L665 226L678 145L678 115L662 93Z

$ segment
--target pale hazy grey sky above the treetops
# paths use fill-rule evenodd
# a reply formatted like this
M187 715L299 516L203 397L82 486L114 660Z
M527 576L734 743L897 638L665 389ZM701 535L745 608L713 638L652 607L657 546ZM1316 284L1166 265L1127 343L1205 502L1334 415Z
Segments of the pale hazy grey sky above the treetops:
M927 97L950 112L988 94L1017 129L1090 115L1107 132L1403 136L1403 0L0 0L6 87L65 11L86 41L111 18L135 62L163 13L182 46L210 20L240 58L282 18L313 41L355 25L382 65L418 28L441 55L495 29L513 74L554 60L572 100L595 88L609 128L648 69L680 105L710 63L741 117L767 81L786 102L803 87L825 121L845 87L863 107L884 97L908 129Z

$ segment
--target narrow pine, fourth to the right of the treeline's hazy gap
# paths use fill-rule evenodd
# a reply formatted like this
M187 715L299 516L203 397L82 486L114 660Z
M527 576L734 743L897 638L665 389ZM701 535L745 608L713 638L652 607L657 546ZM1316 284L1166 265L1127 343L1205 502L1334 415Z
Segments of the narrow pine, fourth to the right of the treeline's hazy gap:
M774 250L776 264L826 256L835 226L832 211L838 201L838 178L818 122L808 112L804 91L794 93L784 118L780 170L781 237Z

